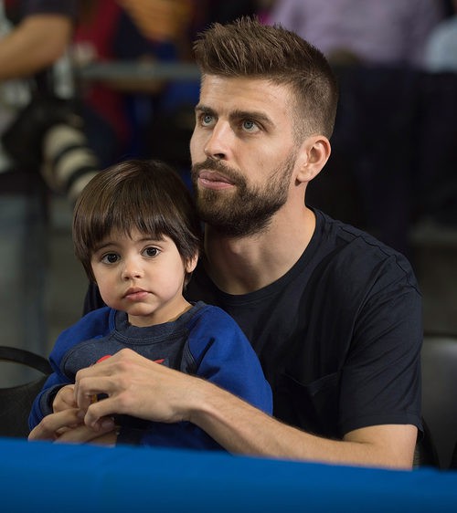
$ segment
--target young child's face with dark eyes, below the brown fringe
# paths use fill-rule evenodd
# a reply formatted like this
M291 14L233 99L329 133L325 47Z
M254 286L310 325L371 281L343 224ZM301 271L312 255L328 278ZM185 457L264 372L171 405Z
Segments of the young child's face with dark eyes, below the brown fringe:
M197 255L186 263L167 236L153 240L137 230L131 237L112 231L90 264L101 298L113 309L126 311L134 326L167 322L188 309L184 279L197 266Z

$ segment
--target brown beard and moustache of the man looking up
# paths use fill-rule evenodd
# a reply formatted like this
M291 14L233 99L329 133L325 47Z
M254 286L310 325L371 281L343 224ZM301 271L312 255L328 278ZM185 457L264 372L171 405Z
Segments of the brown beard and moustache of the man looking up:
M249 186L244 176L224 162L207 159L192 166L192 183L200 219L223 236L252 236L263 232L271 217L286 203L295 155L291 154L265 179L263 186ZM235 194L198 189L201 170L222 173L236 187Z

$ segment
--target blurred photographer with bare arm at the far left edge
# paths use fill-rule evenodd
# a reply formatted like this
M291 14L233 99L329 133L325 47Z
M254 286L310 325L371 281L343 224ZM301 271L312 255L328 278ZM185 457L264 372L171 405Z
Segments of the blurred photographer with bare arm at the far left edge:
M28 81L64 53L74 16L76 0L0 0L0 136L26 107ZM31 149L24 145L22 151ZM26 169L0 141L0 343L46 354L47 202L40 165ZM0 384L11 386L29 377L9 367L2 369Z

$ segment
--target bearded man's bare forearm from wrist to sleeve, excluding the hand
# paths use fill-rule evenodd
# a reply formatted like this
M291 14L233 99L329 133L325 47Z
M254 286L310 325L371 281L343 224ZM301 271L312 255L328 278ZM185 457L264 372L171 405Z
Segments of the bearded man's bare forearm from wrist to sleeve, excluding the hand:
M410 468L417 429L371 426L329 440L282 424L230 393L204 382L190 421L229 452L315 462Z

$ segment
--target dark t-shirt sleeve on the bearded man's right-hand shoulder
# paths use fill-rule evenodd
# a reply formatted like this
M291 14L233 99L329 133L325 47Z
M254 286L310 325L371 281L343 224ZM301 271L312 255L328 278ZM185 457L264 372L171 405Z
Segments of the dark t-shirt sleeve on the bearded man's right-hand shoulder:
M421 297L408 279L395 276L386 269L356 318L341 372L342 434L377 424L421 429Z

